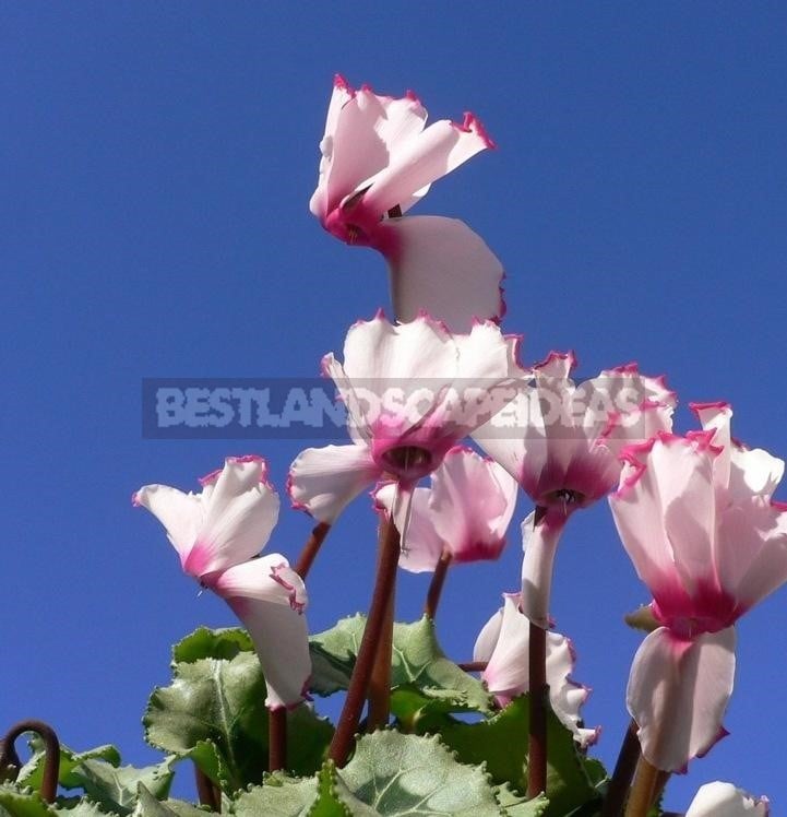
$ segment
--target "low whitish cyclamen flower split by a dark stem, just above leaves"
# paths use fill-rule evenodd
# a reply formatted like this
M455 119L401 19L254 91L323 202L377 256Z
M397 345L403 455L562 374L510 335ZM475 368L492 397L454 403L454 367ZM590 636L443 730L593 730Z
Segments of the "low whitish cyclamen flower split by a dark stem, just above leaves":
M503 607L488 621L476 639L474 661L486 661L487 668L481 678L487 689L500 706L529 691L527 653L530 623L520 611L522 596L504 593ZM571 641L559 632L547 632L547 683L549 702L561 723L574 735L583 747L598 738L598 729L582 725L580 708L591 690L572 680L574 650Z

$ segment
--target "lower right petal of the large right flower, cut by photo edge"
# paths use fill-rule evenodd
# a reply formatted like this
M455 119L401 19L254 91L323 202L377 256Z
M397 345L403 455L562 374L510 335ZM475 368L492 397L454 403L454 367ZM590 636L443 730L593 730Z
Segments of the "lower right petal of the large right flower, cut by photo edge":
M787 511L755 497L726 509L718 522L722 588L738 615L787 582Z

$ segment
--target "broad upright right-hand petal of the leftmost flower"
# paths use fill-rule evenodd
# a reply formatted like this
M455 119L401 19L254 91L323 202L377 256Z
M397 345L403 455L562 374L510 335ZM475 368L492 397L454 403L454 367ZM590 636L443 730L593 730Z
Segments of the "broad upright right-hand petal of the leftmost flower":
M211 476L205 519L183 564L204 576L247 561L267 543L278 520L278 495L265 482L260 458L228 458L220 475Z

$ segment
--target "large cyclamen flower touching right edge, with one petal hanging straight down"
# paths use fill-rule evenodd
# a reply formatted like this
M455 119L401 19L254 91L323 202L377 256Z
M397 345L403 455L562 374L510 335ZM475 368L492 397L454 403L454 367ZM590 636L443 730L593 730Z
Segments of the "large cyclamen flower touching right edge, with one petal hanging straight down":
M784 462L730 438L726 403L692 406L703 431L627 450L610 506L660 625L634 656L627 702L645 758L683 770L726 732L736 632L787 581Z

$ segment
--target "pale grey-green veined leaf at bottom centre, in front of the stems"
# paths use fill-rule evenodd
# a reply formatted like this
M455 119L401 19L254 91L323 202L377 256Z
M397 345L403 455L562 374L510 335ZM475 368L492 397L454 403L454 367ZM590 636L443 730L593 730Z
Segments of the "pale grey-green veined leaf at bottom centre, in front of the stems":
M338 777L354 797L380 815L502 814L484 769L458 763L437 736L394 731L365 735Z

